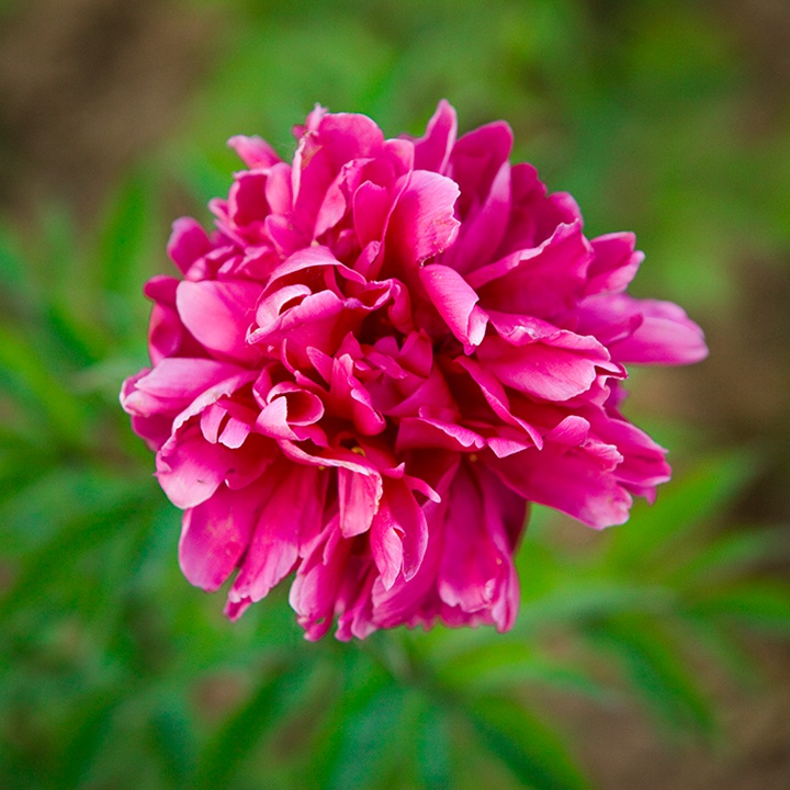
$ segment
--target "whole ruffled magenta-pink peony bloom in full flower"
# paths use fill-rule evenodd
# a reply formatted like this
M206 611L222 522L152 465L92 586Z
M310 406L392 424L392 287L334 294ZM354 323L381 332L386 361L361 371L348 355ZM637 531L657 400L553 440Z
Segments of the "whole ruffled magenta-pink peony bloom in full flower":
M587 239L574 200L511 165L496 122L419 139L316 108L292 162L246 168L216 227L178 219L151 368L121 400L184 510L187 578L233 574L238 618L290 574L307 639L516 618L530 501L594 528L669 477L619 411L624 363L702 359L668 302L624 291L632 234Z

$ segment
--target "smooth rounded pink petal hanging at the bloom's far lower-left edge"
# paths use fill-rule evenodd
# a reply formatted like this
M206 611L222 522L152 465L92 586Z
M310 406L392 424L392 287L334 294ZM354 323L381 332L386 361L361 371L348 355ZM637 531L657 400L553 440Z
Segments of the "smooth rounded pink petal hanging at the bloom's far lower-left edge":
M247 549L255 499L248 490L221 486L206 501L188 509L179 542L179 564L195 587L214 592Z

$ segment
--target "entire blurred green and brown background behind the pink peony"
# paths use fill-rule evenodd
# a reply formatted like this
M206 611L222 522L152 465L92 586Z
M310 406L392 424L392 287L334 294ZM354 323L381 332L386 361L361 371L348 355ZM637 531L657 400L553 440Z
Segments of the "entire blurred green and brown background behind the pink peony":
M789 41L785 0L0 3L0 787L789 787ZM704 327L632 376L676 477L603 534L537 508L505 636L230 624L117 406L143 282L227 137L442 97Z

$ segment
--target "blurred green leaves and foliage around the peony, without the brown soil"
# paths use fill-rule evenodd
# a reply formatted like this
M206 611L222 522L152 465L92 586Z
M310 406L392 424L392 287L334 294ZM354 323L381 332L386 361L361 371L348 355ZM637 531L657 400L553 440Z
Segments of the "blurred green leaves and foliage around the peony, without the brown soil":
M666 734L715 741L704 667L748 680L745 634L790 632L790 586L765 573L787 535L721 528L748 452L698 455L591 548L535 508L509 634L314 645L283 590L230 624L182 578L180 515L117 391L146 362L140 287L166 270L169 206L206 219L237 167L224 139L286 153L316 100L388 134L418 132L442 95L464 128L507 117L517 158L574 193L591 235L639 230L637 290L726 309L722 256L788 248L790 127L744 144L725 29L679 0L184 9L216 21L216 60L182 129L93 233L52 207L34 234L0 227L0 786L588 787L552 695L635 699ZM693 450L691 426L662 431Z

